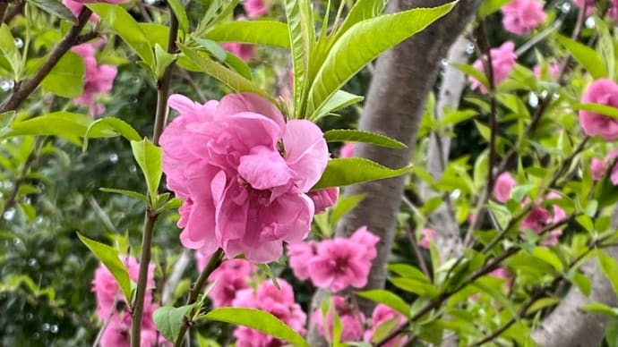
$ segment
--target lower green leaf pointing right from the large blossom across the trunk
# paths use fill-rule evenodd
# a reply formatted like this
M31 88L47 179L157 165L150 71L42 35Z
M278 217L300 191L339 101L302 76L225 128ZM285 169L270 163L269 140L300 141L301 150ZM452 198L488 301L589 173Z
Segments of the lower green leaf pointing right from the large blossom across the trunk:
M330 159L322 178L312 190L397 177L408 173L411 168L410 165L393 170L360 157Z

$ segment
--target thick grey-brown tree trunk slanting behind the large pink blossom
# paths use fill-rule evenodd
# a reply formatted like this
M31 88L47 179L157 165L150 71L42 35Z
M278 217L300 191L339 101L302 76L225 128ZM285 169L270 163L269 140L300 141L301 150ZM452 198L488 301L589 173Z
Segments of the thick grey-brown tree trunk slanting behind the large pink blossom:
M447 0L392 0L387 11L392 13L446 3ZM479 4L480 0L459 1L451 13L378 59L359 128L391 136L406 143L408 148L396 150L360 145L356 147L356 157L367 157L389 167L409 164L425 107L425 98L433 87L440 61L476 13ZM366 193L367 197L342 219L337 234L347 236L359 226L367 225L381 239L366 289L384 286L385 266L391 253L405 180L406 177L398 177L358 184L346 190L348 195ZM322 295L323 292L316 294L314 307ZM372 302L360 300L359 304L365 313L371 315ZM323 345L313 327L310 329L309 343L312 346Z

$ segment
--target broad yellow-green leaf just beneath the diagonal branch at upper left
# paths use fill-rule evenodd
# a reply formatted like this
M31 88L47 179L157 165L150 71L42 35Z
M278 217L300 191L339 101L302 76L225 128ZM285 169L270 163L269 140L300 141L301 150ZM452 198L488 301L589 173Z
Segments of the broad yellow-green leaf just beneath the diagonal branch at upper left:
M41 81L41 87L59 97L79 97L83 94L85 72L83 58L66 52Z

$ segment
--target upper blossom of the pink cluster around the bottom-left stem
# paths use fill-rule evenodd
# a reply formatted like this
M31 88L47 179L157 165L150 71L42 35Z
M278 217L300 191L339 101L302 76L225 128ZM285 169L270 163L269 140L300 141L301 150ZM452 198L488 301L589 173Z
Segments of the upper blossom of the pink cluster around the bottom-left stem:
M120 256L120 259L127 268L129 278L133 282L137 283L140 274L140 264L137 262L137 259L128 256ZM150 290L146 291L146 301L149 301L152 300L151 289L155 286L154 264L150 264L148 267L147 286ZM124 302L126 305L124 294L120 292L116 278L114 278L114 275L107 270L107 267L105 267L103 263L101 263L94 272L94 278L92 279L92 292L95 293L95 297L97 298L97 316L101 320L106 320L107 317L109 317L110 312L113 309L116 309L114 306L115 300L117 300L117 302Z

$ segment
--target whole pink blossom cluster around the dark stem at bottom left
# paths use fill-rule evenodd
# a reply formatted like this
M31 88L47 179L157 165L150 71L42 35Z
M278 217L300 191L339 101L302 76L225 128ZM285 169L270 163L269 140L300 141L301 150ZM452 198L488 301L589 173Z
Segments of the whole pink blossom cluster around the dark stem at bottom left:
M137 282L140 264L137 259L122 256L124 265L129 273L129 278ZM152 320L152 314L159 305L152 300L152 288L154 288L154 265L148 267L146 297L142 317L142 342L140 345L155 346L167 345L165 339L157 331ZM97 317L106 326L101 335L102 347L123 347L131 344L131 324L133 318L129 311L129 305L120 291L114 275L103 264L99 265L92 279L92 292L97 299Z

